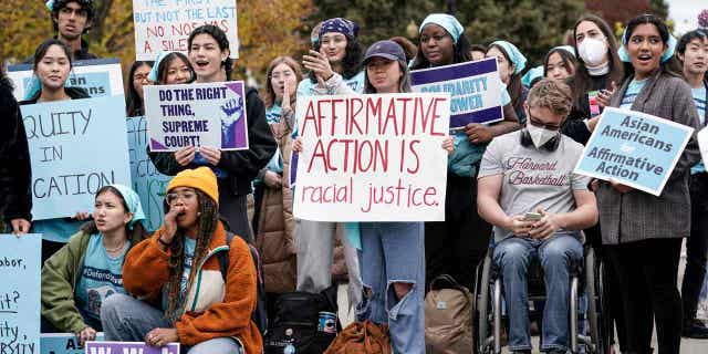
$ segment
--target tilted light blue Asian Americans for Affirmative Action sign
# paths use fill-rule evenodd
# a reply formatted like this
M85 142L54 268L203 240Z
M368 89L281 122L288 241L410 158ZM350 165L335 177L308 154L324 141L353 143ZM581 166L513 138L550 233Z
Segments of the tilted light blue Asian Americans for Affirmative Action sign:
M653 115L606 107L575 173L659 196L693 132Z

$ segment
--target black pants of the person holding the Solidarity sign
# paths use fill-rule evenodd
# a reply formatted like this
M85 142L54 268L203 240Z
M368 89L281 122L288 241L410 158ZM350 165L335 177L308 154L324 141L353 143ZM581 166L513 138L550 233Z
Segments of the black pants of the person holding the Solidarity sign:
M425 223L426 289L436 277L450 274L473 291L490 236L491 225L477 214L477 179L448 174L445 221Z

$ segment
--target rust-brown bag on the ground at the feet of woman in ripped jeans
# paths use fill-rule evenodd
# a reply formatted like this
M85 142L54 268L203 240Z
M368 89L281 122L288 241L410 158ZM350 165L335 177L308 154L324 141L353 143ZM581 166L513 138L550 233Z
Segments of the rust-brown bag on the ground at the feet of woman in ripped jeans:
M377 325L372 321L350 324L324 354L391 354L388 325Z

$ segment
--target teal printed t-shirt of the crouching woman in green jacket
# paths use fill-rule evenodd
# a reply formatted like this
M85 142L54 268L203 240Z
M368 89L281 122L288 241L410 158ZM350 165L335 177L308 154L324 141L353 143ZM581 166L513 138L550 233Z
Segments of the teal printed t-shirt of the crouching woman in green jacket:
M103 246L102 233L91 236L81 278L74 289L76 308L85 316L101 321L101 304L115 293L126 293L123 289L123 260L128 248L131 241L126 241L123 251L114 258Z

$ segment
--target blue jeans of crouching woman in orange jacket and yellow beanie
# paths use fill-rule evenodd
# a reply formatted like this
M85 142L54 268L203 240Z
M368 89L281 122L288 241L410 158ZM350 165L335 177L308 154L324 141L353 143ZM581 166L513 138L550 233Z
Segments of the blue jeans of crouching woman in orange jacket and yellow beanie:
M157 327L171 329L165 313L146 302L124 294L114 294L101 305L101 323L106 341L144 342L145 335ZM243 354L241 343L231 337L201 342L180 347L187 354Z

